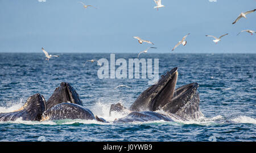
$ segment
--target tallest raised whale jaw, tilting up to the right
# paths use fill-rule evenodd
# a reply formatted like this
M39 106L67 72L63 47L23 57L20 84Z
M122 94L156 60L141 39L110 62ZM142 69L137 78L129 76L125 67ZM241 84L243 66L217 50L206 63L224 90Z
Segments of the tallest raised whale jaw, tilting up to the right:
M156 84L146 89L130 106L131 111L155 111L171 100L177 82L177 67L165 73Z

